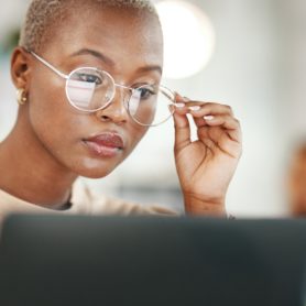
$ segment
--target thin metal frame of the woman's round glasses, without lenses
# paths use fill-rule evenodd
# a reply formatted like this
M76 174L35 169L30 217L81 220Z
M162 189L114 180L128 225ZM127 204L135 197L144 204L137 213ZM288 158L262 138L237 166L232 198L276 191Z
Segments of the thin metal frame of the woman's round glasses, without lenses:
M97 112L98 110L102 110L102 109L107 108L107 107L112 102L113 97L114 97L114 95L116 95L116 90L113 90L112 96L110 97L109 101L108 101L105 106L102 106L102 107L100 107L100 108L98 108L98 109L95 109L95 110L85 110L85 109L81 109L81 108L77 107L77 106L70 100L70 97L69 97L69 95L68 95L68 92L67 92L67 91L68 91L68 89L67 89L67 81L70 79L70 76L72 76L76 70L79 70L79 69L94 69L94 70L96 70L96 72L102 72L103 74L106 74L106 75L111 79L111 81L113 83L114 88L116 88L116 87L120 87L120 88L123 88L123 89L129 89L129 90L132 91L132 92L133 92L134 90L141 88L141 87L139 87L139 88L132 88L132 87L128 87L128 86L124 86L124 85L117 84L117 83L114 83L113 77L112 77L108 72L98 69L97 67L78 67L78 68L72 70L68 75L66 75L66 74L59 72L57 68L55 68L53 65L51 65L48 62L46 62L44 58L42 58L41 56L39 56L39 55L37 55L36 53L34 53L33 51L28 51L28 52L29 52L30 54L32 54L39 62L41 62L41 63L44 64L46 67L48 67L52 72L54 72L55 74L57 74L59 77L66 79L65 91L66 91L66 97L67 97L67 99L68 99L68 101L69 101L69 105L70 105L72 107L74 107L75 109L77 109L77 110L79 110L79 111L83 111L83 112L89 112L89 113L91 113L91 112ZM168 88L165 87L165 86L159 86L159 89L163 92L163 95L165 95L165 96L168 98L168 100L172 102L172 105L175 106L175 103L176 103L176 101L175 101L175 92L174 92L173 90L168 89ZM170 94L170 92L171 92L171 94ZM171 97L171 95L172 95L172 97ZM131 96L132 96L132 95L131 95ZM130 98L131 98L131 96L130 96ZM130 98L129 98L129 101L130 101ZM124 103L124 107L125 107L125 109L128 110L129 116L130 116L138 124L143 125L143 127L157 127L157 125L160 125L160 124L166 122L166 121L173 116L173 113L174 113L174 111L175 111L174 108L173 108L173 110L170 110L170 116L168 116L166 119L164 119L162 122L159 122L159 123L155 123L155 124L145 124L145 123L142 123L142 122L138 121L138 120L130 113L129 107L127 107L125 103Z

